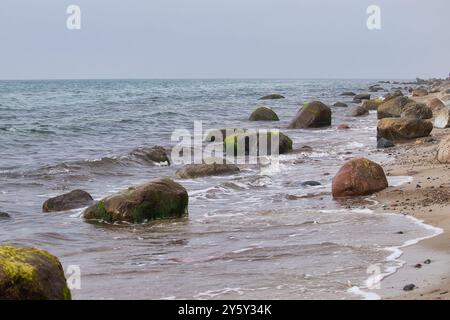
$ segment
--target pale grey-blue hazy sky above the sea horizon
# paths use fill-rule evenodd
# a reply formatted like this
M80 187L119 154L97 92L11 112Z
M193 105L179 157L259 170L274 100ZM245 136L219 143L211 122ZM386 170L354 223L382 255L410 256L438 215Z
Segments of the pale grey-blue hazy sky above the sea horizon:
M448 0L1 0L0 79L444 77L449 13Z

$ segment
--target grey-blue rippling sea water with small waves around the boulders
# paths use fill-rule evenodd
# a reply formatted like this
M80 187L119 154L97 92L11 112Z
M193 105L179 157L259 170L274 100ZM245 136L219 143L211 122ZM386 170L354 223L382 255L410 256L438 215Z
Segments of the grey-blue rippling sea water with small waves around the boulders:
M333 108L333 126L286 130L299 105L347 101L342 91L373 80L80 80L0 81L0 243L31 245L78 265L75 298L318 299L354 298L367 266L388 246L426 234L398 215L351 210L331 198L340 165L355 156L387 161L376 150L376 114L351 118ZM390 89L389 85L386 89ZM265 101L277 123L249 122ZM378 95L384 94L380 92ZM42 203L80 188L96 199L161 176L137 148L170 148L173 130L280 128L294 148L281 170L244 167L235 175L179 181L189 192L189 218L145 225L91 224L82 210L42 213ZM336 130L347 123L351 130ZM304 187L316 180L321 186ZM396 234L403 231L404 234ZM385 266L385 265L381 265Z

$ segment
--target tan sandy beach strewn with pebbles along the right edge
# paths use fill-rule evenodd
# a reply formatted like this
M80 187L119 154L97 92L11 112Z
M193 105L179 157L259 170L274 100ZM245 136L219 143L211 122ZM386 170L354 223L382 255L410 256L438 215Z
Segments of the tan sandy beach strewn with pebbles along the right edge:
M442 93L413 99L427 103L436 97L442 97ZM439 142L449 134L449 128L434 128L431 137L386 149L394 157L383 165L386 175L410 176L413 180L379 192L379 211L410 215L442 229L442 233L402 249L404 266L382 281L380 295L384 299L450 298L450 165L436 159ZM404 291L409 284L416 288Z

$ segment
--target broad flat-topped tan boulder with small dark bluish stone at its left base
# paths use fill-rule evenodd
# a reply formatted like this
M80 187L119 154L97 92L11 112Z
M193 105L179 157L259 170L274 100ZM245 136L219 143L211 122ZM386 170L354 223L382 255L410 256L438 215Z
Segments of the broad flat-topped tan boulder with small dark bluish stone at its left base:
M388 140L409 140L427 137L433 124L427 120L414 118L384 118L378 121L377 134Z

